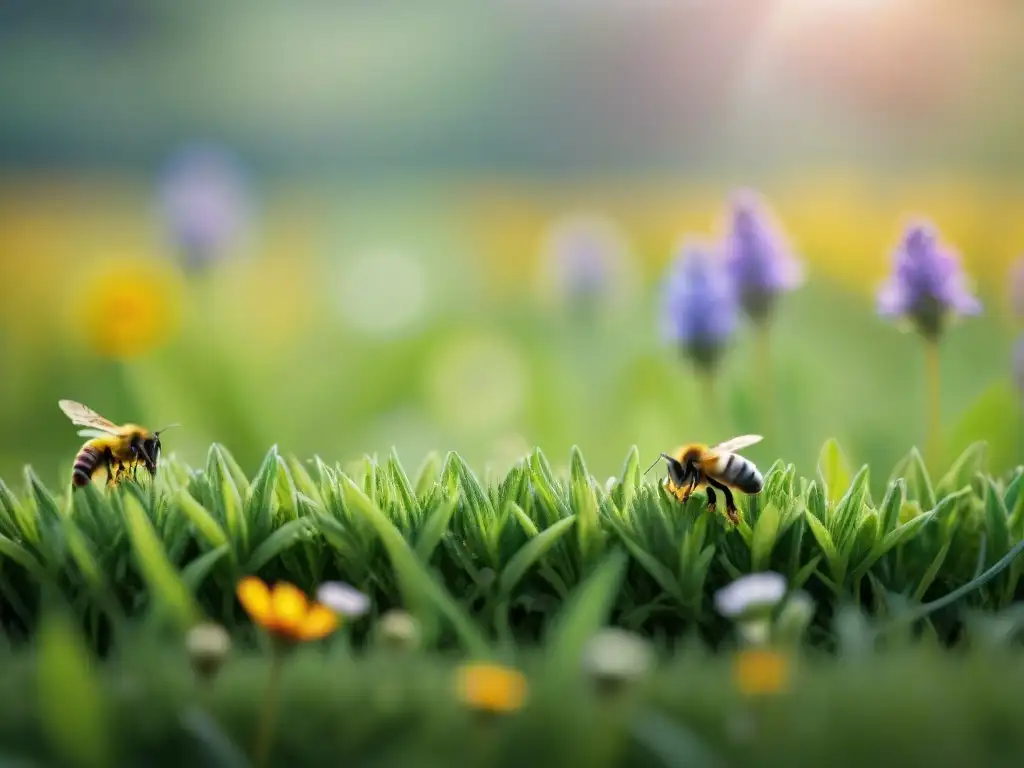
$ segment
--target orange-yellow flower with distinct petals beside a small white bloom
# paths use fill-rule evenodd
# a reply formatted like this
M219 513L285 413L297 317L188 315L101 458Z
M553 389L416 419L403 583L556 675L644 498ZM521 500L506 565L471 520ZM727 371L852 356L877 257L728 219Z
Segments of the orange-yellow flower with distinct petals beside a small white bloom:
M338 628L338 615L310 602L298 587L278 582L271 590L255 577L239 582L239 602L256 624L275 638L292 643L319 640Z

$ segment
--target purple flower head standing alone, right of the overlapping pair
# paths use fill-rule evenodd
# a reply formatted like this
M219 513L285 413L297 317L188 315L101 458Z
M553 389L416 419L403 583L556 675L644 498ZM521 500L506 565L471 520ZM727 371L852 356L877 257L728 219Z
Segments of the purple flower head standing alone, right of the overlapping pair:
M939 243L929 222L907 227L893 261L893 272L878 297L883 316L906 317L926 338L936 339L948 319L981 312L958 255Z

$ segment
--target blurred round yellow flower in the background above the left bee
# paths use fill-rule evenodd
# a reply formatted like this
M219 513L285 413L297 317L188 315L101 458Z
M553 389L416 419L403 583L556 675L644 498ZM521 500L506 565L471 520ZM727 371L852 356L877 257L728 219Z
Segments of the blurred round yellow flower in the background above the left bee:
M97 354L134 357L177 331L180 284L169 264L139 259L111 262L97 268L80 290L76 324Z

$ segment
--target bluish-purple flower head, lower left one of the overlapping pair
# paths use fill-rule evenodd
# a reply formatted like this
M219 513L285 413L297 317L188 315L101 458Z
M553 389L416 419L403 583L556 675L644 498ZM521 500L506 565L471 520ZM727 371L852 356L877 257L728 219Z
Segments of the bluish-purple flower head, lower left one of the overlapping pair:
M695 364L717 364L726 342L736 330L736 293L717 250L685 241L669 268L666 283L663 331Z

